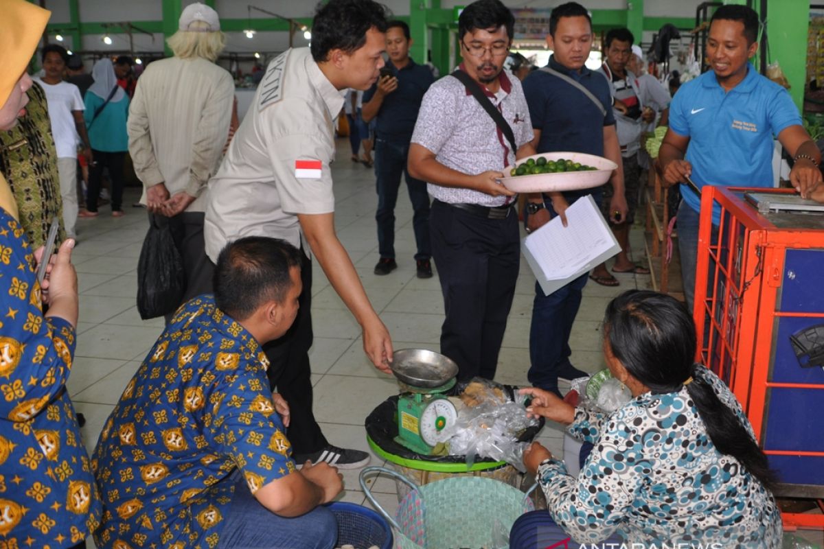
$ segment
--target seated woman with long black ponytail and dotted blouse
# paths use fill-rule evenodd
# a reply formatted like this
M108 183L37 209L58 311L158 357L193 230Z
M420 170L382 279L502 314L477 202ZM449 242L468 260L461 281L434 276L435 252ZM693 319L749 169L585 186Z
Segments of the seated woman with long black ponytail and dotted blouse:
M519 518L511 547L611 535L659 549L780 547L775 478L733 393L693 363L695 324L684 306L657 292L627 291L607 305L603 337L607 367L633 396L616 412L521 390L533 397L527 413L569 425L594 448L578 477L541 444L527 449L524 463L549 513Z

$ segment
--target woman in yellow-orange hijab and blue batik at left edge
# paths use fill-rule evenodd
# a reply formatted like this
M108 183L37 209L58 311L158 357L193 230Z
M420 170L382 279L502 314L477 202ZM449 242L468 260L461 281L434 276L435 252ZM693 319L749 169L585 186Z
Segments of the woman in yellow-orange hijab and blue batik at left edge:
M0 0L0 130L26 114L31 55L49 12ZM33 251L0 172L0 546L85 547L101 502L66 381L77 326L74 240L52 258ZM39 260L49 261L42 286ZM43 314L43 305L49 312Z

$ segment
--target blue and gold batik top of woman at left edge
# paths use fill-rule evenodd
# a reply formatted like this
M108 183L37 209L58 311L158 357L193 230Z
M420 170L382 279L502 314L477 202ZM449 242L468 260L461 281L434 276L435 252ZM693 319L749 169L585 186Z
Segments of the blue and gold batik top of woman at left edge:
M75 331L44 318L24 232L0 208L0 547L60 549L96 528L101 502L65 387Z

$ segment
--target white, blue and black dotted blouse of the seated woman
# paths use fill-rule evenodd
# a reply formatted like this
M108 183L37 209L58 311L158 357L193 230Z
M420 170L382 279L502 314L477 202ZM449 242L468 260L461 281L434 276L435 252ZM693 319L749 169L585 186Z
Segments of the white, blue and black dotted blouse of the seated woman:
M753 435L733 393L709 370L700 372ZM594 444L581 473L571 477L552 459L538 468L537 481L550 515L575 541L617 533L644 547L781 547L775 499L715 448L686 388L644 393L610 415L578 408L569 433Z

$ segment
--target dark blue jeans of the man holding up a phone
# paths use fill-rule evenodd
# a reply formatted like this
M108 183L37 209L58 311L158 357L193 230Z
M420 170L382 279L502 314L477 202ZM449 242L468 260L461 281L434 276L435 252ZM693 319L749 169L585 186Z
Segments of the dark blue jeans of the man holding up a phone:
M432 257L429 244L429 195L426 183L414 179L406 169L406 156L409 155L409 142L392 142L384 139L375 140L375 176L377 178L377 244L382 258L395 258L395 204L398 200L400 175L406 177L406 188L410 193L410 202L414 216L414 240L418 246L415 259Z

